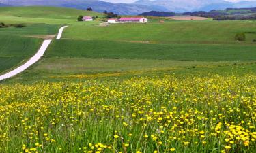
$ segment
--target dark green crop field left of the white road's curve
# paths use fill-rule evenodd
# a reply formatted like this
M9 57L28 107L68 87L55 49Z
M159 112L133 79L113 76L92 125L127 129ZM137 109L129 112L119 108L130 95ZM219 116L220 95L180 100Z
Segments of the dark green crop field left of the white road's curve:
M59 25L47 24L0 28L0 73L27 61L40 48L40 36L55 35L58 30Z

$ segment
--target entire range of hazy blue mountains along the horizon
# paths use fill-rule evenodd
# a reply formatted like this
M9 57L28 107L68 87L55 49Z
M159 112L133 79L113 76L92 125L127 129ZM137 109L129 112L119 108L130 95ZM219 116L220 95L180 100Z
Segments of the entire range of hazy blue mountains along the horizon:
M134 3L109 3L99 0L0 0L1 5L29 6L48 5L86 9L92 7L98 12L104 10L117 14L141 14L148 11L190 12L210 11L225 8L256 7L256 1L233 3L224 0L139 0Z

